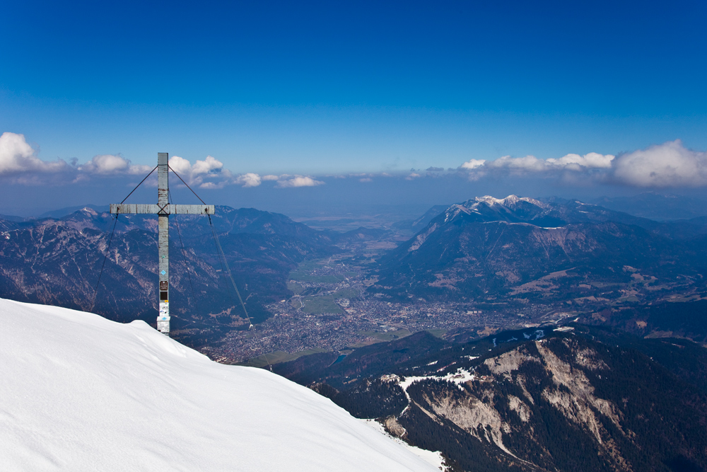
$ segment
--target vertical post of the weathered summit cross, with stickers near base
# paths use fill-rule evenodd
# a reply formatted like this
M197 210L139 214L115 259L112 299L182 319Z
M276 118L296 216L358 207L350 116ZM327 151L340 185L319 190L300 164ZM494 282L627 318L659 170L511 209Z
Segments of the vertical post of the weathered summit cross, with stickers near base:
M159 264L157 270L160 275L160 313L157 317L157 329L160 333L170 333L170 214L168 191L169 168L168 153L157 154L157 205L160 207L158 213L158 234L157 246L159 253Z

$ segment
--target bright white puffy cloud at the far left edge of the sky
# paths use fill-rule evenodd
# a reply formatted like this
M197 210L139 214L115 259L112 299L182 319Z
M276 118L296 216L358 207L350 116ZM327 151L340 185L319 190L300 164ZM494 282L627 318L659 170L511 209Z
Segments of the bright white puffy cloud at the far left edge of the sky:
M0 136L0 175L27 172L59 173L71 171L71 166L61 159L42 161L25 141L24 134L4 132Z

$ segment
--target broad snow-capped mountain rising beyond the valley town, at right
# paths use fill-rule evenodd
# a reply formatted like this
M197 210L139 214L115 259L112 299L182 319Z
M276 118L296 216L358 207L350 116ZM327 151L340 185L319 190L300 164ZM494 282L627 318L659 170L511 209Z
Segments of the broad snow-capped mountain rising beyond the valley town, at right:
M702 277L703 229L678 226L576 201L477 197L381 258L370 291L454 301L617 298L638 277L654 286Z

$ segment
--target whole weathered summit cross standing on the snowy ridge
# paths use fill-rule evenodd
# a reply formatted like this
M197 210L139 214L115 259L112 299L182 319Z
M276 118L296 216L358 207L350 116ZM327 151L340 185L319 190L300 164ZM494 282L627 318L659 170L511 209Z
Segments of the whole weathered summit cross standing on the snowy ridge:
M115 214L158 215L158 290L159 313L157 329L165 335L170 333L170 214L214 214L214 205L170 205L168 153L157 154L157 205L135 203L112 203L110 212ZM201 199L199 199L201 200Z

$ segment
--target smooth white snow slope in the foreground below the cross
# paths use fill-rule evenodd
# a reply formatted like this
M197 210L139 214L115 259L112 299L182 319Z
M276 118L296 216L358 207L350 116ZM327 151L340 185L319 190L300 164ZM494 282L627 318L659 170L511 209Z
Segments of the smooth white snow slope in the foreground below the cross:
M0 299L3 471L435 471L327 398L142 321Z

